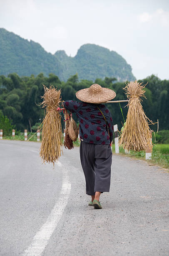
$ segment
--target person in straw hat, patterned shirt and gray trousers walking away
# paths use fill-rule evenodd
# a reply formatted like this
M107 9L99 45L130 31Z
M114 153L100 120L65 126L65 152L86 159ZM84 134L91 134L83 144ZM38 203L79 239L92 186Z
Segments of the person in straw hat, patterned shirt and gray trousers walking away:
M103 104L116 93L92 84L76 93L82 102L67 100L64 108L76 113L80 123L80 160L86 180L86 194L91 196L89 205L102 209L100 194L109 192L113 139L113 121L109 109Z

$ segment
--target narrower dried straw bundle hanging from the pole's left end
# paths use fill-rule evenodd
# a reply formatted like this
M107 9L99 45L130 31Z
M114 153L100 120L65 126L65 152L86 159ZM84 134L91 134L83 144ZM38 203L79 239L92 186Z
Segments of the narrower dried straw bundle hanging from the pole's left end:
M60 90L50 86L48 89L43 85L45 93L42 96L42 108L46 108L46 115L43 119L42 143L40 156L43 162L53 163L61 156L62 126L61 115L56 111L61 102Z

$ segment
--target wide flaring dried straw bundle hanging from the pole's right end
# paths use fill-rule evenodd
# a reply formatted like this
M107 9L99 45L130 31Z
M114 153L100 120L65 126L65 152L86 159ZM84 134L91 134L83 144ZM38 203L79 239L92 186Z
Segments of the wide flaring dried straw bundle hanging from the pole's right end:
M120 136L119 146L122 146L126 150L141 151L146 150L147 147L152 149L152 141L149 129L149 123L147 116L142 108L140 97L145 97L144 87L147 84L142 85L137 81L129 82L124 87L125 94L129 98L127 106L129 107L127 113L127 120L124 130ZM153 122L149 120L151 124Z

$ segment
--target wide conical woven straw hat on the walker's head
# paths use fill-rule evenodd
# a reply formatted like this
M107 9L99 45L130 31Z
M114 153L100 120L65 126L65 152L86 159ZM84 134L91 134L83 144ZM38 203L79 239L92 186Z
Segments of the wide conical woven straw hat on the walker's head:
M99 84L92 84L89 88L76 92L79 100L89 103L103 103L116 97L116 93L109 89L101 87Z

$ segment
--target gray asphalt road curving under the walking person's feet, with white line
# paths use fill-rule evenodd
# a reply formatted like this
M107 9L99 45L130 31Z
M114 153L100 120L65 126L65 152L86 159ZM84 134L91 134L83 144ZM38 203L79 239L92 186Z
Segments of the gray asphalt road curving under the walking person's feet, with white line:
M169 255L169 173L113 155L102 210L88 206L79 148L42 164L40 143L0 141L0 255Z

